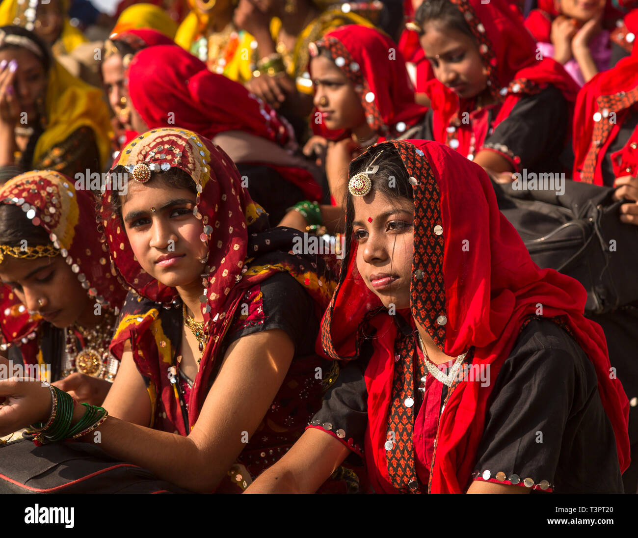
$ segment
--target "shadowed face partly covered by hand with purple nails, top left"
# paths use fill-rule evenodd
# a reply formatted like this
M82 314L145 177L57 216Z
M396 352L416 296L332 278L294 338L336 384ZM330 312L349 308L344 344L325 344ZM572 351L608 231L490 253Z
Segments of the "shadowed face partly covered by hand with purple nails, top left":
M44 100L47 95L47 72L40 59L26 49L0 50L0 61L2 60L7 62L15 60L18 63L13 86L19 101L20 112L27 113L26 123L22 124L29 126L29 123L38 117L38 98ZM20 117L20 121L22 117L24 116Z

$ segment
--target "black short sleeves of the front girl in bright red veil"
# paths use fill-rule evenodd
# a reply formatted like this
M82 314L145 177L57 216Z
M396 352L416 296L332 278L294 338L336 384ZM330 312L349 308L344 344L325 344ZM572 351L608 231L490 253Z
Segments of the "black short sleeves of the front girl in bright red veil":
M371 356L371 348L363 349L343 367L313 417L343 428L360 446L367 427L364 371ZM563 329L532 320L494 382L475 470L517 474L521 481L531 477L537 484L547 480L560 493L622 493L616 441L596 372Z

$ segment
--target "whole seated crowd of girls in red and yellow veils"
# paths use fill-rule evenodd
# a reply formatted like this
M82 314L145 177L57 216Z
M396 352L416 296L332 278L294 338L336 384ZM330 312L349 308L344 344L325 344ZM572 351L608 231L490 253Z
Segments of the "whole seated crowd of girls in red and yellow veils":
M1 380L5 444L98 431L202 493L637 491L638 304L585 313L495 193L565 174L638 226L631 1L129 4L101 89L68 6L0 6L0 365L52 382Z

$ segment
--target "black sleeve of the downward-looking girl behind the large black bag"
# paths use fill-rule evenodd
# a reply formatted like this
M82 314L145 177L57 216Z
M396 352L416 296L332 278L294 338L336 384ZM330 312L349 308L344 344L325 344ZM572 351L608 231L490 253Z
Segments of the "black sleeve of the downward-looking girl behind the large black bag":
M519 169L561 172L561 155L567 145L569 107L561 91L548 86L524 96L483 142L501 144L521 158Z

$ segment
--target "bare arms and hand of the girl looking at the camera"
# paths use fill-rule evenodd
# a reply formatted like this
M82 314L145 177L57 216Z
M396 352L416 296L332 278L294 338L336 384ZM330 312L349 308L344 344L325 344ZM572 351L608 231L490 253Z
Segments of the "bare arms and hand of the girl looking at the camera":
M293 354L293 342L281 329L249 334L234 341L188 437L151 430L117 418L126 417L147 424L150 419L147 396L146 403L142 403L144 382L137 369L132 371L135 368L130 364L132 358L124 357L123 370L116 378L116 382L122 381L118 387L112 387L105 401L105 407L110 408L114 416L98 428L100 447L115 458L140 465L177 486L210 492L245 447L246 433L253 435L259 426L279 391ZM132 394L126 394L127 388ZM39 383L0 383L0 398L2 396L8 396L12 405L5 414L0 412L0 433L16 430L14 425L19 422L19 427L24 427L47 421L50 415L48 388ZM27 405L21 405L24 403ZM137 405L142 408L138 409ZM4 409L0 407L0 410ZM73 422L83 413L84 409L77 406ZM96 438L91 432L82 440L91 442Z

